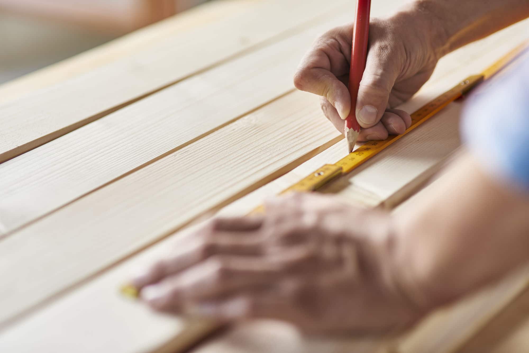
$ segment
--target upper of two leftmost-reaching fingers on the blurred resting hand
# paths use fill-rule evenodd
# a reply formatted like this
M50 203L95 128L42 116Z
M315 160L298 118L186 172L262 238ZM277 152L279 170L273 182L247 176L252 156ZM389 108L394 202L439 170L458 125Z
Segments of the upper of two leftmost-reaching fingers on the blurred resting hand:
M164 277L178 273L199 261L217 254L258 255L262 253L262 242L254 232L217 231L212 236L186 237L175 246L175 250L165 259L152 265L144 273L133 278L136 288L158 282ZM244 234L241 236L241 234Z

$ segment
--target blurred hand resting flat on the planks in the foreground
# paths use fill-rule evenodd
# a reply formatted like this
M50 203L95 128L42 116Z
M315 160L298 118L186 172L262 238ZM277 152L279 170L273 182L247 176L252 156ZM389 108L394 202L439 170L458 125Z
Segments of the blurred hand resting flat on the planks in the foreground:
M294 194L261 216L216 218L134 278L153 309L278 319L311 333L405 328L423 314L391 263L389 215Z

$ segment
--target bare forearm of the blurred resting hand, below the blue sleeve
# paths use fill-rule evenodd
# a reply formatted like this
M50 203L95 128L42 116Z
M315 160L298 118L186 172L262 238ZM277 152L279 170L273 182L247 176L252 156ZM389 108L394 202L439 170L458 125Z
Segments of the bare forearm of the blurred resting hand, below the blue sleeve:
M394 213L394 260L409 295L442 304L529 260L529 197L460 157L421 197Z

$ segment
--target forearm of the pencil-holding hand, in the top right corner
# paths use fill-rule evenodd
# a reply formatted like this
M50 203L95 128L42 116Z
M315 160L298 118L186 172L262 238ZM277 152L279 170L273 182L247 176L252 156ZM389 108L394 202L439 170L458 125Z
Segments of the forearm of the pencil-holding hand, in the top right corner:
M416 0L405 8L441 57L529 17L528 0Z

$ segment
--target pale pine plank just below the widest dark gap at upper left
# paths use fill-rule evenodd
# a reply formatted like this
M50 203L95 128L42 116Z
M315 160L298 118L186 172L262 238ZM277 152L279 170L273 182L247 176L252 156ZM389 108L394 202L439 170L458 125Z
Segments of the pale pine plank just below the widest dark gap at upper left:
M0 190L2 190L0 192L0 196L2 196L0 197L0 211L2 213L0 222L4 225L4 230L0 230L0 239L2 234L4 236L11 234L24 224L40 219L94 190L151 164L153 161L158 160L160 156L166 156L171 151L177 151L189 143L216 131L220 126L229 124L245 113L256 110L256 105L257 108L262 106L263 101L269 102L270 99L273 101L273 99L277 99L277 96L290 92L293 89L290 78L290 66L295 67L304 48L309 45L316 33L330 27L333 23L345 21L344 18L344 16L336 17L335 20L325 22L309 31L294 35L270 47L252 52L247 56L190 78L124 110L108 115L78 131L13 159L4 165L0 165L0 173L6 175L3 180L0 180ZM514 29L510 31L512 32L512 30ZM482 48L488 48L493 40L494 43L499 40L503 41L503 47L500 47L500 49L508 47L509 43L514 41L512 39L506 41L505 37L507 35L508 33L503 33L499 35L499 38L493 36L486 42L480 42L477 48L481 48L481 50L467 50L473 55L466 54L461 56L459 53L454 53L455 56L453 58L448 57L447 60L441 61L438 69L443 69L435 71L432 78L433 82L435 82L435 78L439 79L441 77L438 73L446 75L448 69L454 70L458 67L457 65L472 62L476 57L483 54L484 50ZM275 55L275 52L281 53L281 55ZM288 55L286 52L288 52ZM268 53L268 56L263 57L265 53ZM496 53L501 55L503 51L497 49ZM494 55L491 55L491 57L494 57ZM276 56L276 60L279 56L281 61L270 61L273 60L271 58L274 56ZM248 60L253 60L254 62L249 65ZM454 62L457 64L454 64ZM266 67L267 63L269 67L271 66L269 71L258 73L257 75L253 72L254 66L262 68ZM259 85L263 79L269 79L269 81L273 81L276 84L272 90L259 90L259 94L263 95L262 97L253 97L252 95L251 99L255 101L251 101L251 99L250 101L248 99L244 100L243 103L246 104L244 106L241 106L242 103L233 102L238 99L237 96L231 97L229 95L216 101L206 95L205 98L202 98L202 102L197 100L194 103L201 106L209 106L213 103L218 104L217 108L212 107L209 111L200 111L198 107L189 106L190 104L186 102L186 90L193 90L192 87L198 85L202 93L208 92L209 86L218 85L219 82L222 82L221 80L225 79L219 73L227 72L234 68L239 68L241 71L247 70L244 72L249 77L245 78L248 82L244 82L244 79L242 82L237 81L236 79L244 78L239 73L240 76L233 79L233 83L223 88L224 90L246 92L251 87ZM460 78L454 78L454 81ZM281 83L281 85L277 85L277 83ZM432 85L432 81L428 82L428 85ZM194 90L198 91L196 88ZM265 92L263 93L262 91ZM184 96L181 103L185 102L187 105L180 106L181 104L178 103L179 96ZM176 97L176 99L173 97ZM227 104L233 104L233 107L227 109L226 102L228 102ZM156 108L154 108L155 106ZM154 113L149 110L154 110ZM216 111L229 111L230 113L228 114L237 116L232 118L232 116L226 115L222 119L217 116L213 126L216 124L218 126L209 131L210 126L207 121L203 122L203 119L198 122L198 124L203 122L202 126L197 127L197 118L193 115L197 117L205 116L211 119L213 115L217 114ZM189 126L186 126L185 129L187 130L184 131L187 131L187 134L183 135L180 133L180 130L183 129L179 129L177 123L171 122L174 117L169 115L168 112L172 114L178 113L179 117L187 114L186 119L189 120L189 117L192 119L187 121L186 124L194 126L193 129L195 130L188 131ZM148 119L146 117L143 119L145 114L148 114ZM134 118L134 116L137 117ZM140 117L142 119L139 119ZM119 124L123 126L119 126ZM184 122L181 124L184 124ZM158 126L158 130L152 130L151 126ZM128 141L125 136L127 131L130 135ZM142 131L143 135L138 131ZM146 134L147 132L150 135ZM170 138L168 138L169 135L171 135ZM95 140L96 138L99 140ZM127 146L130 146L130 140L133 138L135 141L132 142L134 146L130 147L133 152L123 148L116 149L116 143L128 143L129 145ZM175 147L175 144L178 144L178 146ZM64 161L67 158L75 161L75 164L65 165ZM21 175L22 177L20 177ZM37 200L32 207L28 207L25 203L25 200L30 198Z

